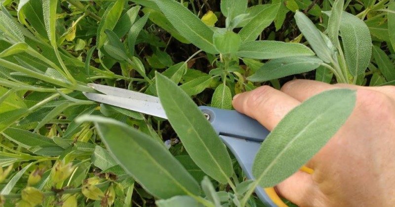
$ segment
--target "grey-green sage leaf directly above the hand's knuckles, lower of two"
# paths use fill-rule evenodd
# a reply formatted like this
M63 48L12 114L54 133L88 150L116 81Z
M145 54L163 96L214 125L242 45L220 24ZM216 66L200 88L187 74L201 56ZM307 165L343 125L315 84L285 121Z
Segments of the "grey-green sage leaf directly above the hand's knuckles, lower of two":
M264 82L316 69L322 60L315 56L299 56L273 59L247 78L252 82Z

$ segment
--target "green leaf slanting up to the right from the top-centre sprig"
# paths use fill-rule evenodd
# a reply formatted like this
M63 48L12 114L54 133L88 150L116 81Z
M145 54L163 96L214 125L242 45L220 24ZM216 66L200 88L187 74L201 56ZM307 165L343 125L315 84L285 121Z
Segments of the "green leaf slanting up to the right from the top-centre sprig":
M267 4L240 32L241 41L254 41L268 27L276 17L279 3Z

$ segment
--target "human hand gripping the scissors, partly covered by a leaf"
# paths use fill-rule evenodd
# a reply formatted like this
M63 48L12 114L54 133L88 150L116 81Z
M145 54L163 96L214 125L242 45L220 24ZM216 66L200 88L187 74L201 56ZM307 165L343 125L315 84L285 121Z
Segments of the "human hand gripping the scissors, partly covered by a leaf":
M298 206L394 206L395 87L294 80L281 90L261 86L234 97L235 109L273 128L294 107L324 90L356 89L347 122L306 164L279 183L279 196ZM308 147L308 146L306 146Z

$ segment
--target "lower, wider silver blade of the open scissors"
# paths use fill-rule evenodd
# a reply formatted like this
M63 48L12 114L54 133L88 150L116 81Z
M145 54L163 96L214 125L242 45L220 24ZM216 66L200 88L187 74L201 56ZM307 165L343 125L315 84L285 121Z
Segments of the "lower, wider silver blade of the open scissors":
M87 93L83 94L92 101L97 101L100 103L110 104L113 106L118 106L120 108L129 109L132 111L141 112L144 114L160 117L167 119L166 114L160 103L150 102L145 100L136 100L132 98L124 98L113 95L105 95L99 93Z

